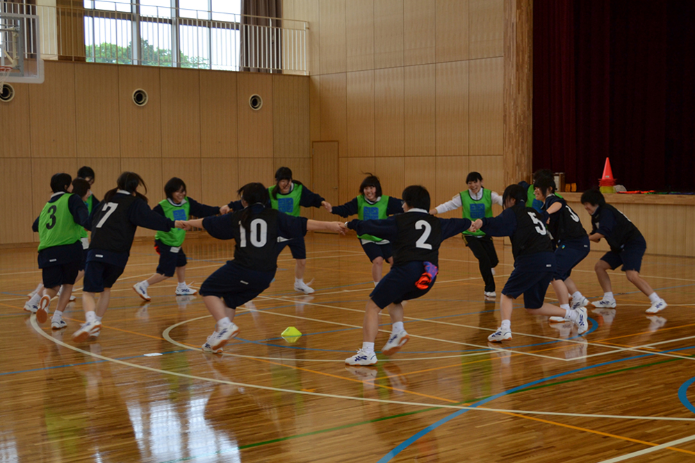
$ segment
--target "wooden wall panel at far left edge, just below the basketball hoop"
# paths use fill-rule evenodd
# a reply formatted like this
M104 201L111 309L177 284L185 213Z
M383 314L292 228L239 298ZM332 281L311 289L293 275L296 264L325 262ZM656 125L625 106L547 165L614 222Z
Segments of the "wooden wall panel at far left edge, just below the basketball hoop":
M31 118L29 117L29 87L13 83L15 98L0 101L0 158L31 158Z

